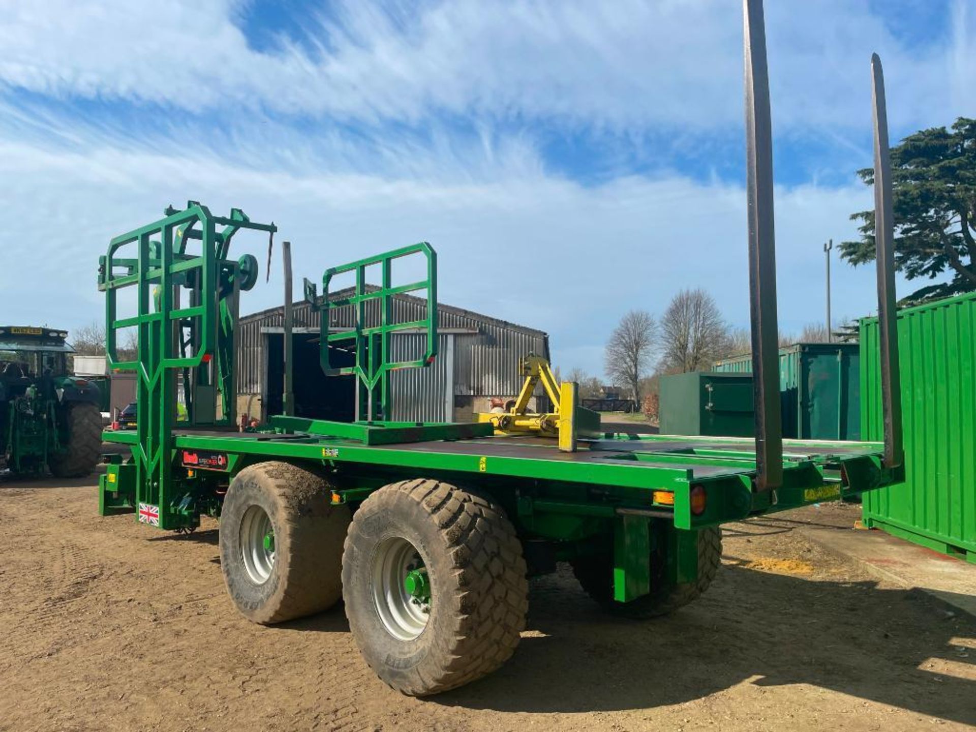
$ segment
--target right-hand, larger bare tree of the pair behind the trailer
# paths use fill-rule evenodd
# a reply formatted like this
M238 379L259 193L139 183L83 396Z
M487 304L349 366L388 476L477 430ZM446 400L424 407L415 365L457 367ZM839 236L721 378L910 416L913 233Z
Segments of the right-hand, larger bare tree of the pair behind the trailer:
M705 371L725 355L728 326L705 290L682 290L661 318L662 366L672 373Z

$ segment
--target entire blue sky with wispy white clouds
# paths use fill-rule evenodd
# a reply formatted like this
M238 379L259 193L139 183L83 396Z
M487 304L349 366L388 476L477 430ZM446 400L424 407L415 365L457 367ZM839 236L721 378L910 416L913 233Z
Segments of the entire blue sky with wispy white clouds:
M100 318L108 238L196 199L279 224L310 279L426 239L443 302L548 331L563 369L600 372L617 319L682 287L745 326L739 6L7 0L0 320ZM822 317L822 242L871 203L871 53L893 139L976 114L976 0L766 6L798 332ZM873 271L834 266L834 313L873 308Z

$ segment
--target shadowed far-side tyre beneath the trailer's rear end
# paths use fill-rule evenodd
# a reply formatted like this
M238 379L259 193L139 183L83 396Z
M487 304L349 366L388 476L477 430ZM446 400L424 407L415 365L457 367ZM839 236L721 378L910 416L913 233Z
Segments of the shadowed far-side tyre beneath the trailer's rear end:
M665 580L666 557L651 553L651 591L630 602L613 598L613 558L607 552L590 554L572 562L580 585L606 611L626 618L644 620L668 615L697 600L709 589L721 563L722 531L717 526L698 530L698 579L681 585Z

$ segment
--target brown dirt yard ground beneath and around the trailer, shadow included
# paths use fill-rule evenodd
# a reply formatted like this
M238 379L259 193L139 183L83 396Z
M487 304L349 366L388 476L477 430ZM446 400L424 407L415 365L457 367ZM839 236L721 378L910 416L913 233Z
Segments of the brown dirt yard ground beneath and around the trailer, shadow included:
M562 573L494 675L429 700L386 688L342 607L247 623L215 522L188 537L96 515L93 482L0 483L0 730L918 730L976 724L976 621L878 583L796 527L726 527L712 590L608 619ZM847 530L846 528L838 530Z

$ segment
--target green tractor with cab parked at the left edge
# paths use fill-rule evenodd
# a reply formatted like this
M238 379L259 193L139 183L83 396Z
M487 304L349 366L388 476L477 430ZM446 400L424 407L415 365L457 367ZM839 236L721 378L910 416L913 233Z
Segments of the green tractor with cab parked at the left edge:
M0 326L0 468L80 477L102 453L98 386L72 376L67 333Z

